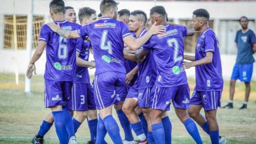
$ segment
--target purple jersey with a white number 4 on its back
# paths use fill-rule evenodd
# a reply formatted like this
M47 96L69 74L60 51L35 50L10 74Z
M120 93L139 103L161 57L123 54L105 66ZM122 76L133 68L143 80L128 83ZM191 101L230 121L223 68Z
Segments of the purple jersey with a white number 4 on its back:
M89 36L95 58L95 75L106 71L126 73L123 62L123 38L131 35L125 23L113 18L102 18L78 31Z

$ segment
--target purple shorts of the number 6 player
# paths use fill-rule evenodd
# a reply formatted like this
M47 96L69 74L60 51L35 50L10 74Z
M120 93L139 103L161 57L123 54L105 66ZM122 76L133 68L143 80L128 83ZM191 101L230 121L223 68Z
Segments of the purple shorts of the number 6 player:
M66 105L71 97L73 82L45 79L45 107Z

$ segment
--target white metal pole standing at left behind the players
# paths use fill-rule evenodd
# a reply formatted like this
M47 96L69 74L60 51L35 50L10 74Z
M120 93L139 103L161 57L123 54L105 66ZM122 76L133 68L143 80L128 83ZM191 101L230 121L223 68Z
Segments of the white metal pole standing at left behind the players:
M32 56L32 42L33 42L33 0L29 1L29 9L28 13L28 22L27 22L27 46L26 46L26 55L27 55L27 65L31 60ZM31 79L26 78L25 74L25 92L31 92Z

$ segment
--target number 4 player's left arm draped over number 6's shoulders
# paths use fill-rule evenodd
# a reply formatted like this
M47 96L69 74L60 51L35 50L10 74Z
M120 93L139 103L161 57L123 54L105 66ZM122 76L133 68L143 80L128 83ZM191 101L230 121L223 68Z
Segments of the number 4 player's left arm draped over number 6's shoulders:
M65 37L66 39L75 39L79 38L78 30L70 31L67 29L60 29L60 25L51 22L47 24L54 32L58 33L58 35Z

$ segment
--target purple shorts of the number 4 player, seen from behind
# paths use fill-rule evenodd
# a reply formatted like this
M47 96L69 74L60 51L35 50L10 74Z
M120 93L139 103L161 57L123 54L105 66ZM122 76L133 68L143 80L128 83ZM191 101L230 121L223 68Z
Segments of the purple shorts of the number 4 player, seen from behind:
M125 91L125 73L107 71L95 75L94 96L97 109L119 104Z

